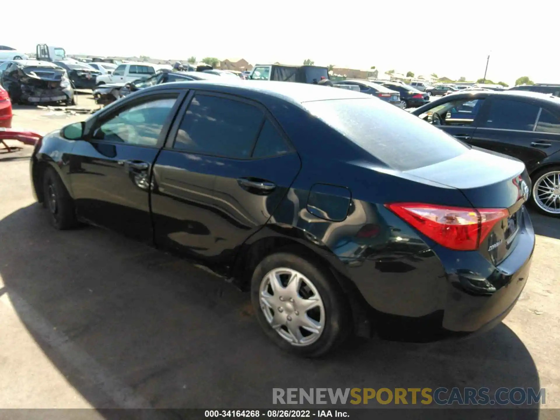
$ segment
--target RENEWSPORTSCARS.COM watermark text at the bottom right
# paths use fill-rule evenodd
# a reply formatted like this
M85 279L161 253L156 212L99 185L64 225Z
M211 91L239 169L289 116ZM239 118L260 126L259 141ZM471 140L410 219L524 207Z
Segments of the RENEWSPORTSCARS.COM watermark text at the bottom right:
M540 388L273 388L273 404L545 404Z

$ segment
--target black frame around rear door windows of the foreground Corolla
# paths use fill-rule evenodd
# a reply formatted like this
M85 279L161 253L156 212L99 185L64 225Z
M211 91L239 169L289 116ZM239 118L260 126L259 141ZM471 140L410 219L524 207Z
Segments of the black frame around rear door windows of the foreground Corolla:
M188 150L180 150L180 149L176 149L176 148L173 147L174 144L175 144L175 138L177 137L177 133L179 132L179 127L181 125L181 122L183 122L183 116L185 115L186 110L190 106L190 102L192 102L194 96L197 95L197 94L201 95L201 96L216 96L216 97L222 97L224 99L228 99L228 100L232 100L232 101L244 102L245 104L255 106L256 108L258 108L263 113L264 118L263 118L263 120L260 124L260 127L258 129L258 132L256 133L256 136L253 140L253 146L251 146L251 152L250 152L249 157L231 157L231 156L222 156L222 155L212 155L210 153L189 152ZM211 90L192 89L192 90L189 91L188 95L186 96L185 100L183 101L183 104L179 108L179 111L176 115L177 115L177 118L175 118L175 121L173 122L173 125L172 125L171 129L169 130L169 135L167 136L167 140L164 144L164 147L163 147L164 150L168 150L168 151L172 151L172 152L178 152L178 153L188 153L189 155L212 156L212 157L218 157L218 158L222 158L222 159L230 159L230 160L236 160L236 161L263 160L263 159L269 159L269 158L272 158L272 157L290 155L291 153L297 153L296 148L293 146L293 143L290 141L290 138L287 136L286 132L284 131L282 126L278 123L276 118L274 118L272 113L270 113L270 111L260 102L257 102L255 100L249 99L249 98L244 97L244 96L233 95L233 94L223 94L222 92L215 92L215 91L211 91ZM286 142L288 152L283 153L283 155L278 155L278 156L267 156L267 157L254 158L252 155L253 155L253 152L255 150L256 143L259 140L260 132L262 131L262 129L264 127L264 123L266 122L267 119L273 125L273 127L276 128L276 130L278 131L278 133L280 134L280 136L282 137L284 142Z

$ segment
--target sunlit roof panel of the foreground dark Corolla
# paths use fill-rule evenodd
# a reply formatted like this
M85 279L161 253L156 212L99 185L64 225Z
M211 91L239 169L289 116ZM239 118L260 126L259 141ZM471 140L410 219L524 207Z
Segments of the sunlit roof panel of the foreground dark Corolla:
M220 80L200 80L190 82L163 83L147 88L147 90L166 89L171 85L185 89L216 90L233 95L260 94L273 96L278 99L301 104L310 101L325 101L336 99L365 99L369 95L348 89L330 88L329 86L312 85L308 83L277 82L277 81L236 81L223 78Z

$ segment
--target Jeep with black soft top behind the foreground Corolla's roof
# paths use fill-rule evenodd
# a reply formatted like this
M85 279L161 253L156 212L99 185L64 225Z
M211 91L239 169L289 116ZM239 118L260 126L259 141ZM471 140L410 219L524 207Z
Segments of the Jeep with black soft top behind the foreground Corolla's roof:
M286 66L284 64L256 64L249 75L251 80L319 83L329 78L329 70L320 66Z

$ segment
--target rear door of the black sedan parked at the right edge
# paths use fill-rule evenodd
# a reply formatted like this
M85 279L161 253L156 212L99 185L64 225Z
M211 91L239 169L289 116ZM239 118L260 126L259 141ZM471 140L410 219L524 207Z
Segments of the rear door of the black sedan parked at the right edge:
M537 119L543 113L538 104L530 99L489 97L488 100L473 134L474 146L516 157L525 163L529 172L537 162L560 150L554 134L535 133ZM548 117L547 112L543 121Z

